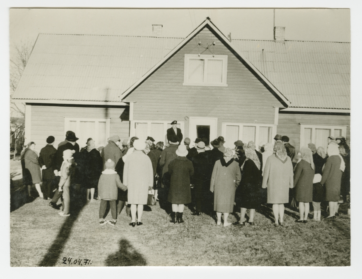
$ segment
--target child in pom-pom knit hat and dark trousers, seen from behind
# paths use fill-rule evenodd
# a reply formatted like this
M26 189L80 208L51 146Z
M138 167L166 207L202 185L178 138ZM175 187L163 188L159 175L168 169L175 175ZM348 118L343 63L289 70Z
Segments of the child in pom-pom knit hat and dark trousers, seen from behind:
M119 179L119 175L114 170L115 163L111 159L107 160L105 167L106 169L102 171L101 177L98 181L98 194L101 196L101 205L99 207L99 224L100 226L104 226L106 223L109 223L111 226L114 226L117 222L117 187L123 191L126 191L127 186L123 185L121 179ZM109 206L111 208L111 221L106 221L104 219L107 201L109 201Z

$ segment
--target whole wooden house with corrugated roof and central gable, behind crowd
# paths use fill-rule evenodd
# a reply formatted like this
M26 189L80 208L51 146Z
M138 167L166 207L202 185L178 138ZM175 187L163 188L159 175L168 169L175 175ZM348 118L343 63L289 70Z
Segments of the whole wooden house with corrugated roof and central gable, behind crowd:
M80 146L115 134L164 141L173 120L184 138L222 135L230 147L277 133L297 150L327 134L349 142L350 46L334 43L334 59L323 43L318 60L307 43L230 42L210 19L184 39L39 34L13 98L26 103L25 141L39 149L67 130Z

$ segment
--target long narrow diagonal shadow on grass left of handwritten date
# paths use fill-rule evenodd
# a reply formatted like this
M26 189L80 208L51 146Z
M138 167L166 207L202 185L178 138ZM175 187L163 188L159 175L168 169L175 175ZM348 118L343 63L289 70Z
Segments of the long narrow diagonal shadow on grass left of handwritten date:
M74 194L72 194L72 191ZM79 186L77 186L76 189L71 189L70 216L64 217L66 220L60 228L53 244L50 246L41 262L38 263L38 266L55 266L72 231L73 224L86 203L86 194L84 192L84 189Z

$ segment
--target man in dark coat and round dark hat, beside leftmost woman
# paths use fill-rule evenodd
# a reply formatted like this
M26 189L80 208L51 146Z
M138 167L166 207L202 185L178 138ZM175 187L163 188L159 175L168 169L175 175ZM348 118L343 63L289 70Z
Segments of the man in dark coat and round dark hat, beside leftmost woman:
M38 162L42 169L42 180L44 188L44 199L51 199L54 185L54 169L53 164L55 163L56 149L54 145L54 137L49 136L46 139L47 145L40 150Z

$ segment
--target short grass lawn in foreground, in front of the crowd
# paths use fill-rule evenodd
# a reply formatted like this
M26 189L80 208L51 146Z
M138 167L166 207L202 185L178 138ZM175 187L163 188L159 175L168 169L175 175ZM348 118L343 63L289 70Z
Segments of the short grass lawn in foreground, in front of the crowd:
M14 164L20 161L10 162L11 172L17 172ZM13 210L11 266L75 266L75 259L82 259L82 265L90 259L87 266L350 265L345 204L335 221L322 217L321 222L307 224L295 223L299 213L286 208L283 227L273 226L272 211L263 206L255 215L256 225L243 228L216 226L210 216L192 216L187 207L185 223L172 224L158 203L143 213L142 226L129 226L123 209L114 227L100 227L99 205L100 201L87 203L70 217L61 217L48 201L37 198ZM229 215L229 222L236 216ZM106 219L110 218L109 213ZM64 264L64 257L72 258L72 265Z

